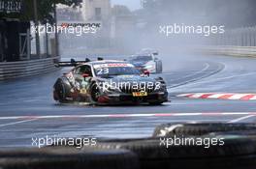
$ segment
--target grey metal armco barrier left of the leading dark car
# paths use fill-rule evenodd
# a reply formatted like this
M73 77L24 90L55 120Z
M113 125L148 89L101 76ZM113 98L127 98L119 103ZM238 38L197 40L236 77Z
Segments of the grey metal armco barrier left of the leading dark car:
M57 70L54 67L54 62L58 60L59 57L0 63L0 80L38 75Z

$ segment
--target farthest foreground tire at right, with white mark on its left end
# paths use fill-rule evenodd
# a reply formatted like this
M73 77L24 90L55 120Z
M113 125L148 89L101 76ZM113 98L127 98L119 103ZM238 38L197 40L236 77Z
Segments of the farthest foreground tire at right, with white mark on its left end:
M234 132L234 131L255 131L256 125L254 124L164 124L155 127L153 137L159 136L198 136L208 134L210 132ZM164 134L163 134L164 133Z

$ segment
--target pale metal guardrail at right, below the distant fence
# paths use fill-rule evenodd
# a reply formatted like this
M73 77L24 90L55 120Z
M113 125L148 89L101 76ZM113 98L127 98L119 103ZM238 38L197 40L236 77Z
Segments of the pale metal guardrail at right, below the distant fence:
M200 47L205 54L256 57L256 46L216 45Z

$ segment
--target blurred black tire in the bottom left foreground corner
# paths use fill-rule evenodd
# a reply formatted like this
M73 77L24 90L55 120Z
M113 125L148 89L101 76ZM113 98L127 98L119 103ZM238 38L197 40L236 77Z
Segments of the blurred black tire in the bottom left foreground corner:
M139 169L138 158L127 150L86 150L60 147L1 151L1 169Z

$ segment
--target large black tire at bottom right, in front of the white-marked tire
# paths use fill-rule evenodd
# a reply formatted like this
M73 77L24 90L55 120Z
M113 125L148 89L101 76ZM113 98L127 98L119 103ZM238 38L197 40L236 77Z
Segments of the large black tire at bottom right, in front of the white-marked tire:
M223 135L222 135L223 136ZM203 138L210 138L208 135ZM216 136L217 137L217 136ZM223 146L160 145L159 138L98 142L94 149L125 149L139 157L141 169L254 169L256 143L244 136L226 137Z

